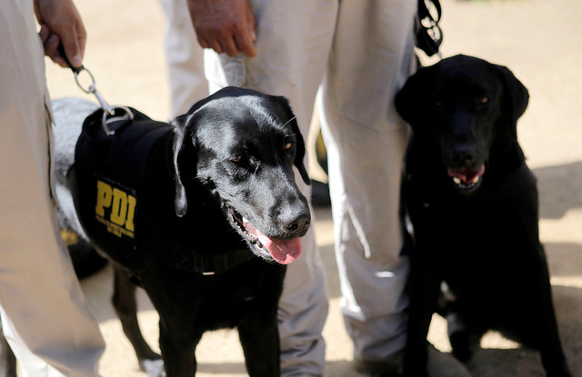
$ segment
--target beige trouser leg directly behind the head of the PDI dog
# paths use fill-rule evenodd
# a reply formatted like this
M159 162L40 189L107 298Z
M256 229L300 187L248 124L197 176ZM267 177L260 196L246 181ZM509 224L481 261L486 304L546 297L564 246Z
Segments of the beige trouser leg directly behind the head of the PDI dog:
M255 58L208 52L211 92L227 84L284 95L306 138L336 21L336 1L251 1L257 19ZM307 164L306 164L307 165ZM298 174L296 174L298 176ZM309 188L297 184L308 194ZM304 253L289 265L279 304L282 375L323 375L326 280L316 250L315 231L303 239Z

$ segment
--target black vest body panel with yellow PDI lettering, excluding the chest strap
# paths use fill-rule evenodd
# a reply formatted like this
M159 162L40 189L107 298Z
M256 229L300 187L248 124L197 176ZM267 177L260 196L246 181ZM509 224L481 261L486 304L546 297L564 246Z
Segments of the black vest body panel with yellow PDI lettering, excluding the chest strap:
M90 114L75 147L76 208L85 232L98 240L120 263L133 263L136 255L135 213L139 211L139 184L147 156L156 140L171 131L131 109L134 119L102 126L103 110Z

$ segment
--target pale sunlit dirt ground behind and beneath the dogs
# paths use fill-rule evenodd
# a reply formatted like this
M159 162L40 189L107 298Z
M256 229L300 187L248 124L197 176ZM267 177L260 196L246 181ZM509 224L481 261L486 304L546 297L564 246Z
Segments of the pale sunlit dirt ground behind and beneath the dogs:
M526 84L531 100L518 125L528 163L539 180L541 239L552 273L562 341L575 376L582 376L582 2L579 0L441 0L445 56L477 55L507 65ZM129 104L165 120L170 114L163 39L165 19L156 0L77 0L89 33L85 66L110 104ZM72 74L47 63L53 97L92 99L75 86ZM339 311L339 288L328 210L316 211L318 244L326 265L331 306L324 335L326 376L356 377L351 343ZM478 241L477 241L478 242ZM493 274L492 278L495 277ZM115 318L109 297L109 269L85 280L87 301L100 323L106 350L104 377L144 377ZM147 340L157 347L157 316L140 292L139 318ZM447 352L444 323L435 318L430 340ZM469 365L474 376L545 375L537 352L496 333ZM246 375L235 332L205 335L197 351L201 377Z

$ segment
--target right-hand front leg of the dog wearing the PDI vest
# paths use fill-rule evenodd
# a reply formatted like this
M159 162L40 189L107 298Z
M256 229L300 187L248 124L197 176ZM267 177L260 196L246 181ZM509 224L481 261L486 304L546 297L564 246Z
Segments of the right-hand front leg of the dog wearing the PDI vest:
M252 313L238 324L238 336L245 352L246 372L250 377L278 377L280 342L276 310Z

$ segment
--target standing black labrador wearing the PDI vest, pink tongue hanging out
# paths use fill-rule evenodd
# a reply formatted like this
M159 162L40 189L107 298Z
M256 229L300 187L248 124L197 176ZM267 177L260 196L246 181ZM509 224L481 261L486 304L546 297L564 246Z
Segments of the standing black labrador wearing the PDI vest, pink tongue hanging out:
M58 113L57 147L59 137L71 136L58 124ZM203 333L230 327L238 330L249 375L278 376L277 305L286 264L302 252L300 237L311 221L294 178L295 166L309 183L295 116L284 97L227 87L173 126L158 129L149 152L139 156L145 149L136 146L128 154L143 160L135 193L111 177L81 192L82 182L95 174L80 168L78 157L71 167L70 154L57 161L59 181L81 214L79 232L114 265L113 304L140 366L150 375L162 373L156 372L160 356L139 330L133 283L146 290L159 313L167 377L195 375ZM96 168L106 163L90 160ZM89 220L83 219L84 207ZM106 231L132 241L129 252L110 241L115 236L95 231L95 218L107 224ZM130 231L132 239L126 237Z

